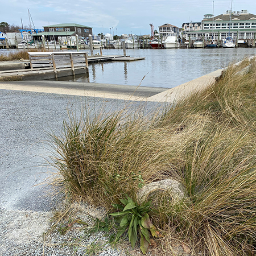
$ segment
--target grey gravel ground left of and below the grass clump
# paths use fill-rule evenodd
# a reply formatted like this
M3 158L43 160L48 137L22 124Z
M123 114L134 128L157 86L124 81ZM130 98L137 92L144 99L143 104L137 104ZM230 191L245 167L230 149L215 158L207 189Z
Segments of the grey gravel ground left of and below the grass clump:
M127 102L14 90L0 90L0 94L0 255L85 255L97 246L102 251L98 255L125 255L106 245L103 234L86 237L79 227L44 240L42 235L49 229L59 200L49 196L49 187L38 184L53 171L45 160L49 155L47 133L60 133L67 109L80 113L81 105L86 104L98 111L104 104L109 112ZM155 105L148 102L148 110ZM88 212L81 214L86 221ZM71 245L65 246L67 242Z

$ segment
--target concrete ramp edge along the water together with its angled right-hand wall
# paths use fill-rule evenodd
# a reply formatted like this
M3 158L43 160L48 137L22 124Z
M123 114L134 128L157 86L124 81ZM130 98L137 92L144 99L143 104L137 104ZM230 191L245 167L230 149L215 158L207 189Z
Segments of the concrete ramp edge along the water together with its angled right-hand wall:
M100 98L116 98L119 100L174 102L182 97L187 97L192 92L197 92L212 84L222 74L218 69L208 75L185 82L171 89L100 84L90 82L64 82L64 81L12 81L0 82L0 89L23 90L27 92L56 93L76 96L89 96Z

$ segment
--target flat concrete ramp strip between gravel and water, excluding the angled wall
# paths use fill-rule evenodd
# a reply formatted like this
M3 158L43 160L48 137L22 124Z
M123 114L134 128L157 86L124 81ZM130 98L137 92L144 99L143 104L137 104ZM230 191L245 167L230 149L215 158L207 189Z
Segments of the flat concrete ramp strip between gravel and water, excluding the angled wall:
M0 82L0 89L145 101L168 88L41 80Z

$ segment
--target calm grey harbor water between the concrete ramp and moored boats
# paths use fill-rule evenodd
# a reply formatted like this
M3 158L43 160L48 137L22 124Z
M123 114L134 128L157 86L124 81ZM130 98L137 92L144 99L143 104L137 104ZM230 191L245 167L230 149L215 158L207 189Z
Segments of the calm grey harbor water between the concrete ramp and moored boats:
M94 54L97 52L94 50ZM103 49L103 55L122 54L122 49ZM76 75L58 80L173 88L225 68L243 57L256 55L256 48L126 49L126 55L145 59L90 64L89 76Z

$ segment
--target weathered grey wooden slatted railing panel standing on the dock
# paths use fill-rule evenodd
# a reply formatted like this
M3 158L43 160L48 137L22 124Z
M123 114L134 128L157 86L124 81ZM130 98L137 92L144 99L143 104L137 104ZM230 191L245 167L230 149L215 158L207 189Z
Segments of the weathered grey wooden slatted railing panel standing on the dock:
M88 52L28 52L30 67L53 68L57 78L57 69L71 69L75 75L75 68L85 68L88 71Z

